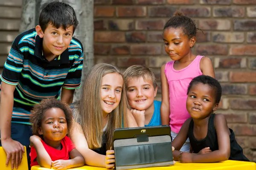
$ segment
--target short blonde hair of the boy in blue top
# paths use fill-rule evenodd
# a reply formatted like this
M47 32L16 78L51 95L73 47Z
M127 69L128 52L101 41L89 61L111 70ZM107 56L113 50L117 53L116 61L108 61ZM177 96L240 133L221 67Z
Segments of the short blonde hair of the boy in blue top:
M125 87L128 84L128 81L130 78L140 78L143 77L143 79L149 79L154 89L157 87L157 80L154 76L154 73L147 67L143 65L132 65L128 67L124 72L124 78L125 78Z

